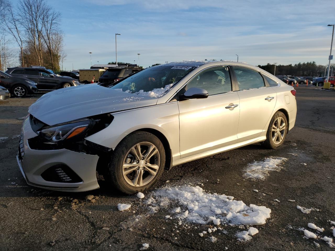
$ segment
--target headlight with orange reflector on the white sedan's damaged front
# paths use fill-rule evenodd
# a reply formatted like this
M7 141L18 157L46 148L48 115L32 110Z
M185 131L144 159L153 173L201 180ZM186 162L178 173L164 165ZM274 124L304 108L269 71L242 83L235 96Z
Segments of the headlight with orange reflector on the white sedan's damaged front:
M51 127L42 128L40 135L53 142L72 139L85 134L95 124L93 119L80 119L68 123L58 124Z

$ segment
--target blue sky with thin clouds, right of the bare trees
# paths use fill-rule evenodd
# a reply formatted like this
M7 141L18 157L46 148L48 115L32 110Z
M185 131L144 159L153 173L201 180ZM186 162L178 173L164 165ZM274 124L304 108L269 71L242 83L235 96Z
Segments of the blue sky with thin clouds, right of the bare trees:
M62 14L63 69L223 59L258 65L327 64L335 0L47 0Z

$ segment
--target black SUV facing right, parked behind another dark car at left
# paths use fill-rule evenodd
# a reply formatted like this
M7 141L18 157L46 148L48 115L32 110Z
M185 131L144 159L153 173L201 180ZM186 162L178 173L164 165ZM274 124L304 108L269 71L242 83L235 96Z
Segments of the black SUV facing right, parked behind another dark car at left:
M40 91L52 91L59 88L76 86L77 80L72 78L58 77L57 75L45 69L37 69L30 67L14 67L8 68L6 73L16 76L28 78L37 83L37 88Z

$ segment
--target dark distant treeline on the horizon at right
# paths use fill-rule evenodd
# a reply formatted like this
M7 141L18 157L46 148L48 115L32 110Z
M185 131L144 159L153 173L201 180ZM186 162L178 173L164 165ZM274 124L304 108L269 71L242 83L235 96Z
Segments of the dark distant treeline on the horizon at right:
M267 65L258 65L259 68L273 74L274 73L274 64L268 63ZM330 73L332 68L335 68L335 64L330 66ZM275 75L287 75L287 76L297 76L297 77L323 77L325 75L325 70L328 69L328 66L317 65L314 61L307 63L298 63L295 65L277 65ZM335 69L334 69L335 70ZM326 70L327 74L327 70ZM333 75L335 72L333 72Z

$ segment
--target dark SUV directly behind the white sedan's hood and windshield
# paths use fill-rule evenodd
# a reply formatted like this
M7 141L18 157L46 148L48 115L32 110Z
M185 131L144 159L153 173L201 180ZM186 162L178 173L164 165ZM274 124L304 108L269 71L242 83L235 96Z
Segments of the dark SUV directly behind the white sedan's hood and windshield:
M99 78L99 85L106 87L140 70L142 70L142 68L139 67L109 68Z

